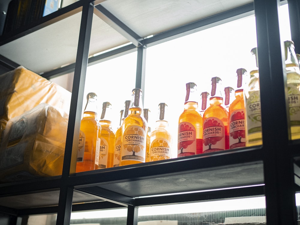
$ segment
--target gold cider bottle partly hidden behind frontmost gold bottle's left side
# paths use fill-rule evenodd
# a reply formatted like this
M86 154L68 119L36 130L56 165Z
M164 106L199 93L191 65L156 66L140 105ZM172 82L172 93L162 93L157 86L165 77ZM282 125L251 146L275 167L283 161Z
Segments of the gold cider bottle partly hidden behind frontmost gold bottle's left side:
M130 100L126 100L124 110L120 111L120 113L121 113L120 127L117 129L116 136L115 136L113 167L119 167L119 164L120 164L120 151L121 151L121 144L122 144L122 123L123 123L124 119L128 116L129 106L130 106Z

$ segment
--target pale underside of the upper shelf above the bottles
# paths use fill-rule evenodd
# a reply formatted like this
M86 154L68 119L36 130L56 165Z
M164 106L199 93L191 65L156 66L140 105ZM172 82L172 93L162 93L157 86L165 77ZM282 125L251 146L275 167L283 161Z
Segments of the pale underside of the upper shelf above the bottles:
M252 2L103 1L94 10L89 56L124 44L138 46L150 35L187 26ZM73 64L83 3L83 0L78 1L35 21L29 27L0 36L0 55L39 74ZM228 13L228 16L232 15Z

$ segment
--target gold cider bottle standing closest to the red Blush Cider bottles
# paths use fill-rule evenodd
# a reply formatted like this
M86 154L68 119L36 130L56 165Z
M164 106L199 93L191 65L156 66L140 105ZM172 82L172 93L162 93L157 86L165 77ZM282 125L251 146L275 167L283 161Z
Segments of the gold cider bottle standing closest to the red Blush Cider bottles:
M167 104L158 105L158 120L155 122L155 129L150 135L150 161L159 161L172 158L172 136L168 131L166 120Z

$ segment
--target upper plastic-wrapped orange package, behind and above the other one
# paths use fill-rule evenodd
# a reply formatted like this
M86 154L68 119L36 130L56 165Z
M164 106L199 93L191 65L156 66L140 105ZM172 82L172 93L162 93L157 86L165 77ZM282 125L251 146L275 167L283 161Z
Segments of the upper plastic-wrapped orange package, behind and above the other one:
M69 113L71 92L19 66L0 75L0 119L6 121L47 103Z

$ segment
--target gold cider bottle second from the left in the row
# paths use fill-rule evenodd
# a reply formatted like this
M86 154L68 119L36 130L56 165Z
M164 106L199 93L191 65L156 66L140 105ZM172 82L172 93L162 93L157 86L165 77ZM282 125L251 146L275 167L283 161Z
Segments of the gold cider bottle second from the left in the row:
M98 169L113 167L113 155L115 147L115 132L112 129L112 120L110 119L111 104L104 102L102 104L102 113L99 120L101 125L99 166Z

